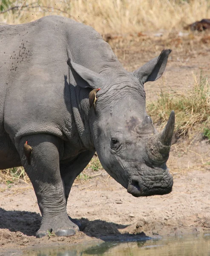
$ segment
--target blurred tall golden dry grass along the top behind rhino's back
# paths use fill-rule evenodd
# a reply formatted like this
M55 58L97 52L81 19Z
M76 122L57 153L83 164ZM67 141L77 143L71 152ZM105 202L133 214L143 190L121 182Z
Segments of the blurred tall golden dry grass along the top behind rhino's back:
M209 0L0 0L0 22L26 23L62 15L93 26L101 34L181 29L210 17ZM17 6L17 7L15 7Z

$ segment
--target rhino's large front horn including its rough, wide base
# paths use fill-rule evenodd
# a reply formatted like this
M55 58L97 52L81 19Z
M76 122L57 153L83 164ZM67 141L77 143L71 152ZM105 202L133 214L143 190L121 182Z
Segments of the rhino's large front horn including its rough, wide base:
M168 160L175 125L175 113L171 111L167 125L160 134L148 138L147 154L152 163L163 164Z

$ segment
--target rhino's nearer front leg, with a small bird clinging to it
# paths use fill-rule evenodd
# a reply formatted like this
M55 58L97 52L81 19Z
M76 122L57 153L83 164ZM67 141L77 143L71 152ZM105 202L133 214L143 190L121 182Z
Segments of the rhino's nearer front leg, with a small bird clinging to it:
M32 147L30 165L23 152L24 143ZM70 221L66 212L66 197L59 168L60 139L49 134L35 134L20 140L20 157L29 175L42 214L38 238L47 235L47 230L57 236L71 236L78 226Z

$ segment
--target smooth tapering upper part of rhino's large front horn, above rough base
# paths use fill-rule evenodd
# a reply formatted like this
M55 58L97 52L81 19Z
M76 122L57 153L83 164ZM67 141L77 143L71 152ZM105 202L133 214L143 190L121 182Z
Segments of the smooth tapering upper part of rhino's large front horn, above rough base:
M173 137L173 130L175 125L175 113L171 111L167 125L161 132L160 141L163 145L170 146L172 137Z

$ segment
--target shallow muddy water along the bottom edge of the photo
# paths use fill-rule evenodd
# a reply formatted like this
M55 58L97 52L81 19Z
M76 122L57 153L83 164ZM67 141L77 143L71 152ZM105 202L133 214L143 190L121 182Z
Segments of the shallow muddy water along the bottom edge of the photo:
M210 256L210 234L29 250L24 256Z

